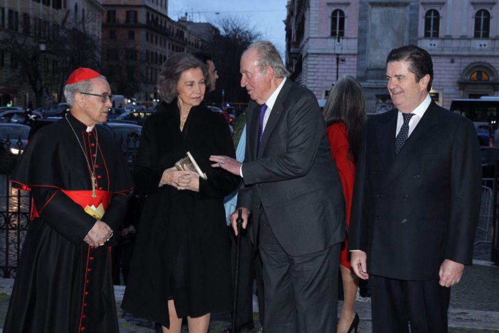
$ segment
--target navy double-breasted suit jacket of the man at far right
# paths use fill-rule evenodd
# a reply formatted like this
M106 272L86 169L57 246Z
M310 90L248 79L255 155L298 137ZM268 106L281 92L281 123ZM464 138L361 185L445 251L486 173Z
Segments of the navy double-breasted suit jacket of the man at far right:
M475 126L433 101L395 157L397 110L367 121L348 249L370 274L438 279L444 259L471 263L482 169Z

